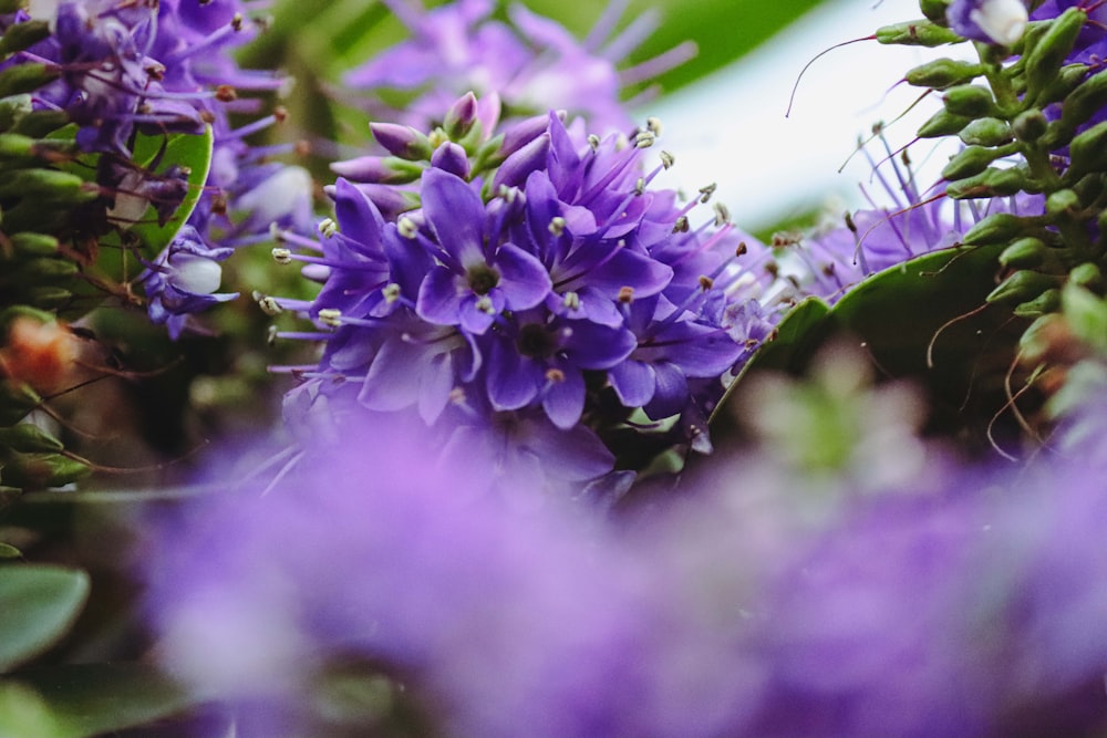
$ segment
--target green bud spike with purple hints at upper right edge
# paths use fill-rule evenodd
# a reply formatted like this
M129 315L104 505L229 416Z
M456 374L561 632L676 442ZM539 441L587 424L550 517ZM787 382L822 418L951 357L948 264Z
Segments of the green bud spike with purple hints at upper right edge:
M949 28L948 0L921 0L925 20L886 27L881 43L934 46L965 42ZM920 138L956 136L961 149L942 170L954 200L1042 196L1035 215L996 212L962 241L1000 247L992 304L1038 316L1062 308L1073 285L1107 292L1107 71L1073 63L1087 22L1074 7L1028 23L1010 48L975 42L979 62L941 58L904 81L940 94L942 107ZM1003 208L1007 209L1007 208ZM1017 209L1016 209L1017 212Z

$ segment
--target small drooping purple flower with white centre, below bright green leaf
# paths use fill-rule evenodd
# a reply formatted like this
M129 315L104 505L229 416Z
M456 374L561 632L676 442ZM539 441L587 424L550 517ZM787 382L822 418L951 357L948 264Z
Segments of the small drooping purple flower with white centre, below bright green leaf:
M177 339L190 313L238 297L216 293L223 278L219 262L234 249L211 248L192 226L183 226L173 242L138 278L148 301L151 322L166 324Z

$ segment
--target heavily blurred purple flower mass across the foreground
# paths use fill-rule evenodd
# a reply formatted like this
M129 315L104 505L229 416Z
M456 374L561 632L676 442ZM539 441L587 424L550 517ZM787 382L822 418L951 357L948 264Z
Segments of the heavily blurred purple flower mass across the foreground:
M1107 724L1107 497L1079 467L862 499L735 459L600 521L482 493L490 469L428 462L425 436L362 417L268 496L214 495L162 529L145 564L164 664L260 709L266 736L322 735L311 684L351 655L402 675L447 736ZM828 491L847 505L813 516Z

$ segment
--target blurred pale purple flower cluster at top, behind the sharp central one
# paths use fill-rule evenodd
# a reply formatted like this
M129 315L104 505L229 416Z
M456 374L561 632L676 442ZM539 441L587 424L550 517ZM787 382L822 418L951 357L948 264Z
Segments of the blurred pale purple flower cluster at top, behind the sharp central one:
M656 27L642 14L609 40L627 2L611 2L588 38L580 42L565 28L518 3L508 8L509 23L492 18L489 0L459 0L431 11L417 0L385 4L411 31L411 38L345 75L348 86L414 94L402 110L380 102L369 106L379 119L396 119L418 129L439 119L458 95L496 93L513 116L566 110L601 132L625 131L631 123L622 90L645 82L694 53L691 43L631 69L619 62ZM646 95L650 93L646 93ZM643 102L641 97L638 102Z

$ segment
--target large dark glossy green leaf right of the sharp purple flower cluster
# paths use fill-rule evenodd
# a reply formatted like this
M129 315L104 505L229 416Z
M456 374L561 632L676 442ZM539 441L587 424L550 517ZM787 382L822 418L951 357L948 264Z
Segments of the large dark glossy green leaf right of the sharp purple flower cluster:
M763 368L803 374L821 345L846 340L866 351L878 376L920 384L933 401L934 427L980 430L1005 403L1004 376L1027 324L985 302L1001 250L937 251L869 277L825 312L821 303L801 303L743 377ZM716 447L734 433L743 377L713 418Z

